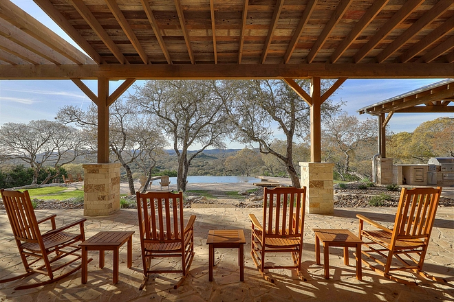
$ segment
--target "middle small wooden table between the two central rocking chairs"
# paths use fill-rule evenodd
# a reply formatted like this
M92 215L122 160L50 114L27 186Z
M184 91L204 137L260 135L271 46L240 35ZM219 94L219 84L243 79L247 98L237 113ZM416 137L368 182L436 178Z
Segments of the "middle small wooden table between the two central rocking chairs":
M238 248L239 280L244 281L244 238L243 230L210 230L206 244L210 248L209 280L213 281L213 266L215 266L215 248Z

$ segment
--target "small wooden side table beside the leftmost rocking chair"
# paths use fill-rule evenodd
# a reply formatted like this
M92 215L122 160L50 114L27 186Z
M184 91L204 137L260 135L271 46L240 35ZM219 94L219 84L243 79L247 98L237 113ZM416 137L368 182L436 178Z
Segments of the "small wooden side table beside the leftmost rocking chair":
M104 267L104 252L114 252L114 278L112 283L118 283L118 251L120 247L128 242L127 264L128 268L132 266L132 235L131 232L99 232L88 240L85 240L79 246L82 248L82 283L87 283L87 251L99 251L99 267Z

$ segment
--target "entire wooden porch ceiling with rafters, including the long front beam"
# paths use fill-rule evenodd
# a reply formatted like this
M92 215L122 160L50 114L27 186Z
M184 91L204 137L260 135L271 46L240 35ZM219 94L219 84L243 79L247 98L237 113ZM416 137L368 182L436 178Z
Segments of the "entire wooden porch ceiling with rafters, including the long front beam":
M2 79L454 78L452 0L34 2L93 61L0 1Z

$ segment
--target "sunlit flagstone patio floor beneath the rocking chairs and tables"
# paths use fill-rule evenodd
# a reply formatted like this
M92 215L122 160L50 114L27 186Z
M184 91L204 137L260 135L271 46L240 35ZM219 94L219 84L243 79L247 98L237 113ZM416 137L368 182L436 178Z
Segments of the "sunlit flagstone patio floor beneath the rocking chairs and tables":
M138 287L142 281L142 259L137 212L122 209L111 216L87 217L87 237L98 231L136 231L133 235L133 266L127 268L126 245L120 249L119 282L112 284L112 254L105 257L105 268L98 268L98 252L89 252L94 258L88 266L88 282L80 283L80 270L75 274L41 288L14 291L25 280L0 283L0 301L454 301L454 210L439 208L435 227L426 255L424 270L449 283L437 283L413 277L419 286L405 286L363 266L363 281L356 279L353 249L349 252L350 266L343 264L342 248L329 248L330 279L323 278L323 267L315 264L314 228L349 229L358 232L356 213L369 216L390 226L395 208L335 209L333 216L306 214L303 249L303 272L307 281L297 279L293 270L270 270L275 283L265 281L250 257L250 222L248 213L261 217L261 209L198 208L185 209L185 217L196 215L195 257L190 274L177 290L173 285L178 274L161 274L150 277L144 290ZM83 217L83 210L37 210L37 216L57 214L57 226ZM213 270L213 282L208 281L209 229L244 229L246 235L244 282L239 281L236 249L217 249ZM323 256L322 256L323 257ZM268 257L267 262L291 263L289 255ZM156 266L178 266L176 260L156 260ZM21 259L5 211L0 211L0 278L23 272Z

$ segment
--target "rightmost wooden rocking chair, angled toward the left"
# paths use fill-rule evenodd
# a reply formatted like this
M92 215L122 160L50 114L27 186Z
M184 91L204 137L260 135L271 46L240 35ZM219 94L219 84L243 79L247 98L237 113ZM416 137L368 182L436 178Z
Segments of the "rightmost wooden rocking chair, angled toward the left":
M371 270L400 283L417 284L414 281L402 279L403 276L391 275L391 271L413 271L428 279L446 282L444 279L433 277L422 271L441 193L442 188L440 187L437 189L431 187L402 188L393 229L388 229L363 215L356 215L359 218L359 237L363 241L369 240L369 242L365 242L368 249L363 250L362 253L379 265L369 264L365 257L363 257L363 262ZM380 230L365 230L363 229L364 222L368 222ZM403 266L394 265L393 257L396 257Z

